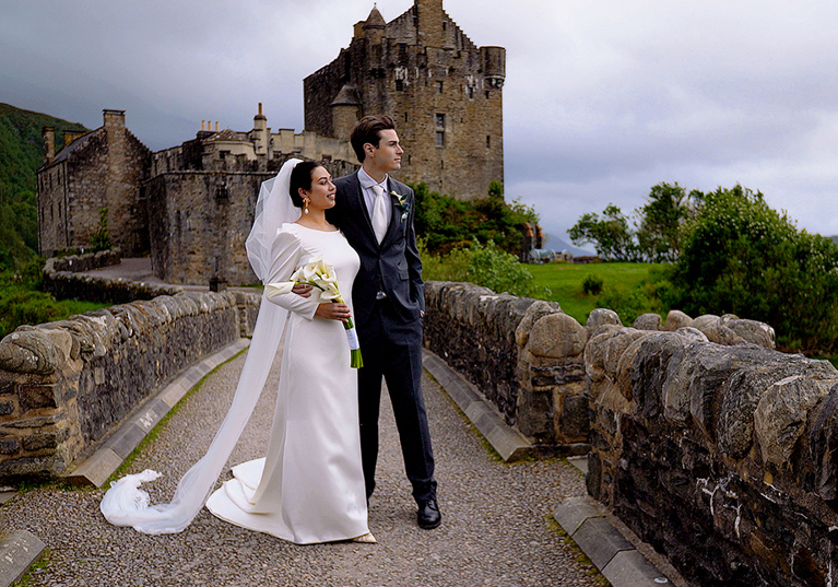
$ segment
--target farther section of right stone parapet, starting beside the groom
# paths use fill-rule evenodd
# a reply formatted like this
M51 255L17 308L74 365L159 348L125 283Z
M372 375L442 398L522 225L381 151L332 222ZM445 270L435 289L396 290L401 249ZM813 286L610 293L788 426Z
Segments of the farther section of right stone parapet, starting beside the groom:
M592 332L623 327L614 312L597 309L582 326L556 303L435 281L425 284L425 345L477 386L508 424L543 455L588 451L591 378L585 353ZM735 316L693 319L673 310L665 325L647 314L635 326L638 333L678 330L695 340L774 348L771 328Z

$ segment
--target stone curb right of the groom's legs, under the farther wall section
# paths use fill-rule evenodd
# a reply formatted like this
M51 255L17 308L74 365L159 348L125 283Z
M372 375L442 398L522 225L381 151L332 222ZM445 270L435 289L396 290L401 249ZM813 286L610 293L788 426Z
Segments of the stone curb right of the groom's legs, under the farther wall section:
M449 367L439 356L423 349L422 366L434 376L505 462L514 462L535 455L530 441L508 426L477 388Z

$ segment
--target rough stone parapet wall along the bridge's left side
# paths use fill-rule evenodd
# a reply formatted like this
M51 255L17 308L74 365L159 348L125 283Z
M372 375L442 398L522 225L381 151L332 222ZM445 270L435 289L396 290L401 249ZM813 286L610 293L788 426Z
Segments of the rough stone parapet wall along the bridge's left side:
M0 341L0 480L66 472L178 373L252 331L260 298L182 292L17 328Z

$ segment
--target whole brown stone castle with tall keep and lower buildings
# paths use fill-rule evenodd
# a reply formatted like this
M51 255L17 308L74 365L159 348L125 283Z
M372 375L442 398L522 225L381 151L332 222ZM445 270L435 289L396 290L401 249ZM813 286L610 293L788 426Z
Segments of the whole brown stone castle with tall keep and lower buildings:
M476 47L442 10L414 0L390 23L374 8L339 57L304 81L306 129L268 127L259 104L249 131L211 128L152 152L126 127L125 110L104 110L86 134L67 133L57 152L44 129L37 172L42 255L91 246L103 228L126 256L151 255L169 283L253 283L245 254L259 186L293 156L321 162L339 177L358 162L349 143L368 114L397 121L405 156L399 178L425 181L460 199L485 196L504 179L506 52Z

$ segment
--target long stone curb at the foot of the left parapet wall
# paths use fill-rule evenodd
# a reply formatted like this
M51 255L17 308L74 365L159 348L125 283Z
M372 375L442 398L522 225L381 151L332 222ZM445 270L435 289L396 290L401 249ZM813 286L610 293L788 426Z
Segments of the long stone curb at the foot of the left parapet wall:
M221 351L184 371L175 380L152 396L93 455L63 478L76 485L101 488L114 474L154 426L212 369L250 345L249 339L238 339Z

